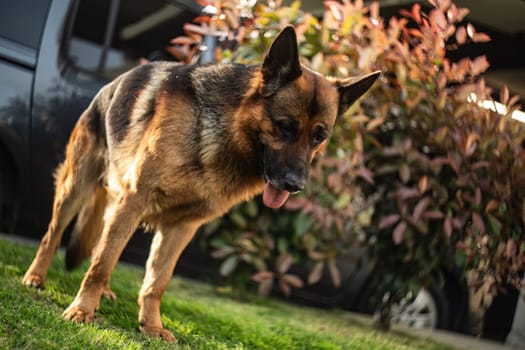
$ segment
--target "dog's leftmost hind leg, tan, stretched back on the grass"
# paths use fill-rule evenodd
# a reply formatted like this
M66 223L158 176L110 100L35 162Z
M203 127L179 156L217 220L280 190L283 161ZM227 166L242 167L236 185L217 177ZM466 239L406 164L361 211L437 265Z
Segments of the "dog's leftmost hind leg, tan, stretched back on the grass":
M103 160L97 149L97 140L86 125L89 122L86 120L89 119L89 110L83 117L73 130L66 148L66 159L56 173L51 221L23 278L23 283L27 286L43 286L64 230L89 199L99 181Z

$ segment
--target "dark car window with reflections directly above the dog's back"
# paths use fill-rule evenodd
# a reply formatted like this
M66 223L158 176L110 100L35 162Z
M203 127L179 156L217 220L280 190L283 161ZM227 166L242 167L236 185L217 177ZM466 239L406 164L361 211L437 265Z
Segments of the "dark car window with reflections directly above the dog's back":
M68 36L75 67L112 79L182 34L195 13L164 0L80 0Z

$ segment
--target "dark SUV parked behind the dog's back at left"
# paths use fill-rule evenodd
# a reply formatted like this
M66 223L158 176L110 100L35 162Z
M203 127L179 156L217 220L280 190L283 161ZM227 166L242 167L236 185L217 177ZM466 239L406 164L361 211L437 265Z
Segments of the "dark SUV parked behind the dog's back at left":
M53 170L80 113L141 57L162 57L200 7L192 0L3 0L1 10L0 231L39 238Z

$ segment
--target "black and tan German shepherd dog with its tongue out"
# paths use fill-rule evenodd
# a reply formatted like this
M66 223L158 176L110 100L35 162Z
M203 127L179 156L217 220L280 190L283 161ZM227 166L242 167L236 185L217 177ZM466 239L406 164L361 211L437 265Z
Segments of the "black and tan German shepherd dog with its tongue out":
M67 265L91 256L64 311L93 319L140 224L154 232L139 293L140 330L174 341L160 300L197 228L262 192L281 207L300 191L336 119L379 77L328 79L299 62L284 28L260 66L142 65L103 87L78 120L56 172L52 218L23 283L43 287L66 226Z

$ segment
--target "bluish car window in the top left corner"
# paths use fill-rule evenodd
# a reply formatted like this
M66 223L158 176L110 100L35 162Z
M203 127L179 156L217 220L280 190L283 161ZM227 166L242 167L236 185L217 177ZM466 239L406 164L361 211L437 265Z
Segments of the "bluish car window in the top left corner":
M2 0L0 37L38 49L51 0Z

